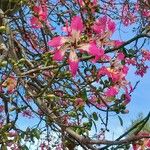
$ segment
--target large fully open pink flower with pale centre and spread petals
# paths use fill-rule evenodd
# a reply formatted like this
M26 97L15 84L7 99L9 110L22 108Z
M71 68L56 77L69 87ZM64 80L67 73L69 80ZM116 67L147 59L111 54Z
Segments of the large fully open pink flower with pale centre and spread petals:
M68 26L67 23L63 30L67 32L67 35L54 37L51 41L48 42L48 45L55 48L53 59L57 61L63 60L66 50L70 50L69 68L73 76L76 75L79 63L76 49L95 56L95 61L104 55L104 50L97 47L95 41L91 41L90 43L86 44L78 43L83 31L82 19L79 16L73 17L71 20L71 25Z

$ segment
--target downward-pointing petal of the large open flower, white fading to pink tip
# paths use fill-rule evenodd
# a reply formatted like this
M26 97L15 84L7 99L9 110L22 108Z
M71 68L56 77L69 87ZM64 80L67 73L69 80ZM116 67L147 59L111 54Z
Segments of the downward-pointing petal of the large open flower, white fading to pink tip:
M79 60L78 60L76 53L74 51L71 51L69 55L69 67L70 67L72 76L75 76L77 73L78 63L79 63Z

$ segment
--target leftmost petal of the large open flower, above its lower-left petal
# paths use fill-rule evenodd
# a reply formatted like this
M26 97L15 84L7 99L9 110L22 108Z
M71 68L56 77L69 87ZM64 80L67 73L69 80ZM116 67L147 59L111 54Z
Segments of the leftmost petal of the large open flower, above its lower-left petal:
M63 43L64 43L63 37L57 36L57 37L54 37L51 41L49 41L48 45L52 47L58 47L58 46L61 46Z

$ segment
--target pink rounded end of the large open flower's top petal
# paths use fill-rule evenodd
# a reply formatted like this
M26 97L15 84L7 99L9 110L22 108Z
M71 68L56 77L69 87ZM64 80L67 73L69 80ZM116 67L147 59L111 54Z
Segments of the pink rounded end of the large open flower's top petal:
M82 32L83 30L83 23L82 19L79 16L74 16L71 21L71 29Z

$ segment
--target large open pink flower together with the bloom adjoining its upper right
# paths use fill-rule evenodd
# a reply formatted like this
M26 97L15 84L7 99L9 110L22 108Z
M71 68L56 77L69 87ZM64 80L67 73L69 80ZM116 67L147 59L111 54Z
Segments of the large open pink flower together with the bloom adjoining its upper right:
M55 48L55 54L53 59L56 61L62 61L65 53L69 52L69 66L72 75L74 76L78 69L79 58L77 56L78 51L81 53L88 53L94 56L94 62L105 57L104 47L107 45L114 45L108 42L108 38L115 32L115 23L108 17L104 16L98 18L91 30L93 36L89 37L86 42L82 37L85 35L83 31L85 29L84 24L80 16L74 16L71 21L71 25L68 23L63 28L63 31L67 33L66 36L57 36L48 42L48 45Z

